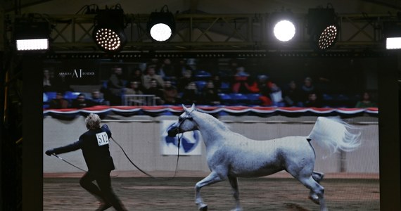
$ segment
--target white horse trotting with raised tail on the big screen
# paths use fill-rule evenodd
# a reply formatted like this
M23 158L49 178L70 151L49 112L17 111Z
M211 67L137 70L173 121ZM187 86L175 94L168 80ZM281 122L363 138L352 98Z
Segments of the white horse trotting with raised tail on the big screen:
M236 208L241 210L237 177L262 177L286 170L310 189L309 198L327 210L324 188L319 184L323 173L314 172L315 153L310 141L324 143L334 151L352 151L360 144L359 135L350 131L349 124L338 119L318 117L309 136L288 136L269 141L255 141L231 132L212 115L201 113L195 105L186 108L169 129L169 136L199 130L205 143L211 173L195 186L195 202L199 210L208 210L200 188L229 179L234 191Z

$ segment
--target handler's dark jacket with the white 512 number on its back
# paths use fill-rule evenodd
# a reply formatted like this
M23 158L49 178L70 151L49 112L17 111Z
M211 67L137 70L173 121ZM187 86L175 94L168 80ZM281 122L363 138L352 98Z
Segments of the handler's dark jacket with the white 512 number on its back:
M114 170L113 158L108 150L108 143L111 137L110 129L103 125L99 129L89 129L79 136L78 141L67 146L54 148L56 154L68 153L82 149L88 170L92 173L108 173Z

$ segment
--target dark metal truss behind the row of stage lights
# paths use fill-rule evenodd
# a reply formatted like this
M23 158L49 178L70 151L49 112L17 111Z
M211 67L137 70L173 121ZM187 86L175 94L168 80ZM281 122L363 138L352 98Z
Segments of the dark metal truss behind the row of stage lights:
M123 51L312 51L306 14L296 15L297 37L288 44L272 38L268 14L176 14L170 41L156 43L146 32L147 14L126 14L128 41ZM13 23L12 17L8 21ZM91 37L94 15L36 15L53 26L51 49L98 52ZM340 34L331 51L381 51L382 25L390 15L338 15Z

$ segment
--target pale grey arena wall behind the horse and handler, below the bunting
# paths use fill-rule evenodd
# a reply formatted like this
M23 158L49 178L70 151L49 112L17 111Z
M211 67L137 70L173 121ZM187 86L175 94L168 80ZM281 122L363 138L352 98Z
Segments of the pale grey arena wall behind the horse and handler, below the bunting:
M314 126L317 117L254 117L254 116L222 116L219 120L225 122L232 131L243 134L250 139L267 140L283 136L307 136ZM113 139L120 143L131 160L146 171L174 171L177 162L176 155L163 155L161 144L160 122L177 120L175 116L133 116L108 117L102 124L108 124ZM378 165L378 118L354 117L347 122L355 124L362 132L362 146L350 153L329 153L312 143L317 159L315 170L320 172L355 172L377 173ZM44 117L44 151L72 143L86 131L84 117L74 120L59 120L50 116ZM110 153L115 161L116 170L136 170L122 150L110 143ZM65 153L61 157L68 162L87 169L81 151ZM44 173L49 172L79 172L75 167L61 160L44 155ZM182 155L179 158L179 170L209 172L205 158L205 147L202 143L201 155Z

